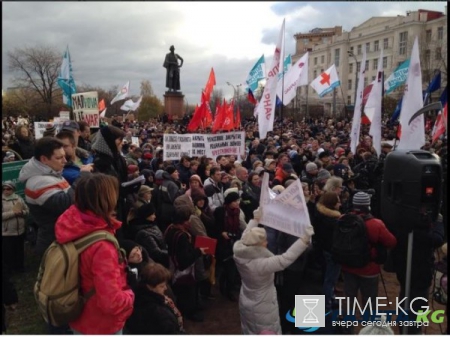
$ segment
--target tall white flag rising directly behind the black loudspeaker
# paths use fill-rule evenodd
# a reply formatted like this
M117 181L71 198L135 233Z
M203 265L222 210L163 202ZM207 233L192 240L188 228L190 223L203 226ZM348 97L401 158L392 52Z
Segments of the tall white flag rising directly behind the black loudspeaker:
M402 110L400 112L400 143L397 148L401 150L419 150L425 145L425 124L423 114L409 123L412 115L423 108L422 98L422 71L420 69L419 41L414 40L409 62L408 78L405 84Z

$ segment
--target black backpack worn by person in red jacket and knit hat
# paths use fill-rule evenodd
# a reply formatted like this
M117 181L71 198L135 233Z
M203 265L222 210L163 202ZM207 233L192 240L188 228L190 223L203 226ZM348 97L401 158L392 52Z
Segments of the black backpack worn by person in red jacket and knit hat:
M370 262L370 243L364 219L344 214L333 232L331 255L336 263L361 268Z

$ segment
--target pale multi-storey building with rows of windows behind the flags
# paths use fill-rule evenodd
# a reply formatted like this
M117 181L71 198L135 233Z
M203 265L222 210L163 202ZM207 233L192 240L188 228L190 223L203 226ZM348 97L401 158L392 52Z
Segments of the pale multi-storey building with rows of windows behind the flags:
M309 82L331 65L336 66L341 81L341 86L336 89L336 111L341 113L344 106L354 104L363 48L366 50L364 86L367 86L375 79L380 51L383 50L383 69L387 78L411 56L416 36L419 38L424 89L437 69L442 72L444 88L447 84L447 6L445 13L420 9L408 11L405 16L372 17L349 32L335 27L295 34L296 53L292 58L296 62L309 52ZM398 98L402 93L400 89L391 95ZM435 95L439 96L440 92ZM294 104L306 111L306 101L308 105L323 105L325 113L332 112L331 93L319 98L311 86L298 88Z

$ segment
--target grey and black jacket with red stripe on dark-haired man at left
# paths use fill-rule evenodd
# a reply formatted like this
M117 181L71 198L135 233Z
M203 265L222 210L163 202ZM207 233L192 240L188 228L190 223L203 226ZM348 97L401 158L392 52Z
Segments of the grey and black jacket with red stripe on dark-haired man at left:
M55 222L73 204L74 190L61 172L34 157L20 170L19 181L25 183L25 202L39 229L36 252L42 254L55 241Z

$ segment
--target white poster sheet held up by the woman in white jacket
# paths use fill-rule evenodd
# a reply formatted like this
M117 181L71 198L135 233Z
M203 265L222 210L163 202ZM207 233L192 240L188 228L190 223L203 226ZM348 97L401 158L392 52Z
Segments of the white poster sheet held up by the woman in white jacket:
M311 224L299 179L277 195L269 188L269 174L264 173L259 203L263 213L259 222L265 226L300 237Z

